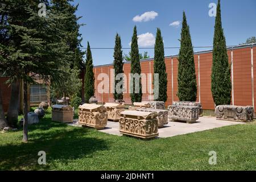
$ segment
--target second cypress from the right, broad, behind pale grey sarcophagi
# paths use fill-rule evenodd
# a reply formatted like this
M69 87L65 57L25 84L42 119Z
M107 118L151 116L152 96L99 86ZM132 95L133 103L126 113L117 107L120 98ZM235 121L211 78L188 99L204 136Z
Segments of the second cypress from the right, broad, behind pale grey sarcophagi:
M181 29L180 52L178 66L178 92L180 101L196 101L197 84L191 35L185 12Z

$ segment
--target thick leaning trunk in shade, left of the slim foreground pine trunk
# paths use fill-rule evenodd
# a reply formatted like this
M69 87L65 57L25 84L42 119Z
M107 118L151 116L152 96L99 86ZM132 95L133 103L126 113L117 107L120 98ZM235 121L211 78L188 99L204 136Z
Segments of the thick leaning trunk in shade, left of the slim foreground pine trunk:
M17 127L18 122L18 107L19 107L19 80L11 84L11 99L9 104L9 109L7 111L7 123L11 127Z

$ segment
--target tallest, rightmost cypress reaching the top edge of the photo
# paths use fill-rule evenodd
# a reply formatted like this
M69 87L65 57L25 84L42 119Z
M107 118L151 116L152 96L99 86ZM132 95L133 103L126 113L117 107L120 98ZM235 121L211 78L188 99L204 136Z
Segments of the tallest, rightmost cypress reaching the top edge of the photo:
M226 39L221 24L221 7L218 1L213 40L212 97L217 105L229 105L231 102L231 78Z

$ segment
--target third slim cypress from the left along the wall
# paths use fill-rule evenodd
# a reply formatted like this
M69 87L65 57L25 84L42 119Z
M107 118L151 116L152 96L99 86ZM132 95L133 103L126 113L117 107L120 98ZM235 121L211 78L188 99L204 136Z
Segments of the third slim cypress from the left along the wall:
M133 38L131 39L131 74L141 75L141 63L139 62L139 48L138 48L138 37L137 37L137 27L134 27ZM135 93L138 90L139 93ZM141 102L142 101L142 86L141 78L139 82L135 79L130 80L130 97L131 102Z

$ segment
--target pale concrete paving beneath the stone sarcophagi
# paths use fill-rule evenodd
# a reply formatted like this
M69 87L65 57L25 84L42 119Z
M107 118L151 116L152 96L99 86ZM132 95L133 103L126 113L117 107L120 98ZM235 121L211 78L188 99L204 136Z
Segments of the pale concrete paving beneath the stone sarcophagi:
M243 125L242 122L222 121L216 120L214 117L200 117L196 123L188 124L183 122L169 122L168 125L164 125L162 129L158 129L159 138L174 137L176 135L184 135L188 133L195 133L197 131L205 131L223 126L230 125ZM76 121L69 124L71 126L79 126ZM99 130L103 133L121 136L119 133L119 123L108 121L108 125L103 130Z

